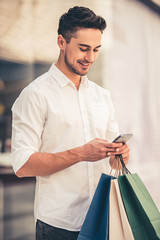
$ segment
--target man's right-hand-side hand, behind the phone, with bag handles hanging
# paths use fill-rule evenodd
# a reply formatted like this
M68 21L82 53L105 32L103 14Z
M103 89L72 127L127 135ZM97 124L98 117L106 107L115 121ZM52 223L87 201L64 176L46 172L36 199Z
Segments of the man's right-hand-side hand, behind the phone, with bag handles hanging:
M129 153L130 153L130 149L128 147L128 144L124 144L121 147L119 147L118 154L122 154L123 162L125 163L125 165L129 161ZM121 163L120 164L118 163L118 158L116 159L115 156L110 157L109 163L110 163L111 167L115 170L122 168Z

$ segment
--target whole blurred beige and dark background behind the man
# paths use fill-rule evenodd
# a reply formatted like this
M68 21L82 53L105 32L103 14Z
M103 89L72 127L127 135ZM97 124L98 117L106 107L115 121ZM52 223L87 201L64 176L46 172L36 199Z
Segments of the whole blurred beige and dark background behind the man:
M56 61L59 17L75 5L107 21L88 77L110 90L121 133L133 133L128 168L160 209L160 0L0 0L0 240L34 239L34 178L10 163L11 107Z

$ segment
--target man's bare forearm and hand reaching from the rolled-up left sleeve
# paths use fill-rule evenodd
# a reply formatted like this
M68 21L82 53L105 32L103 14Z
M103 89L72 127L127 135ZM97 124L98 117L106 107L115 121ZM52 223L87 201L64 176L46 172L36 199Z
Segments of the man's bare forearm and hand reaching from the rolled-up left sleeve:
M78 162L95 162L115 155L120 143L94 139L83 146L60 153L34 153L17 171L18 177L45 176L64 170Z

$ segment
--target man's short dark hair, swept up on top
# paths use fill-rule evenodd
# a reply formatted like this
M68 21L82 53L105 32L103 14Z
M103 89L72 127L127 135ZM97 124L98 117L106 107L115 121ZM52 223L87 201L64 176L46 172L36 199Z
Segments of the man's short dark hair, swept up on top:
M79 28L94 28L103 32L106 21L89 8L76 6L60 17L58 34L61 34L69 43Z

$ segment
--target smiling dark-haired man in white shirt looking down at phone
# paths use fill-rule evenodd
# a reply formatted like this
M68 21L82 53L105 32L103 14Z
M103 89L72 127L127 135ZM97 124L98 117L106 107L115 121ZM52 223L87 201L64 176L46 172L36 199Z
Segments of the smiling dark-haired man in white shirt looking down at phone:
M74 7L59 21L60 54L13 105L12 163L18 177L36 176L36 239L77 239L102 172L115 155L129 159L108 90L88 80L97 58L102 17Z

